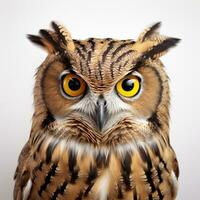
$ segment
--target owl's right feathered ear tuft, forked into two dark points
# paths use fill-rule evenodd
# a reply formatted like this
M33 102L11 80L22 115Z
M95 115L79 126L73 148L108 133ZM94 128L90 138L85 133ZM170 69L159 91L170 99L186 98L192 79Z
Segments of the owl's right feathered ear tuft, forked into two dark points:
M158 59L180 41L178 38L170 38L158 33L161 23L158 22L140 34L133 49L141 54L143 59Z

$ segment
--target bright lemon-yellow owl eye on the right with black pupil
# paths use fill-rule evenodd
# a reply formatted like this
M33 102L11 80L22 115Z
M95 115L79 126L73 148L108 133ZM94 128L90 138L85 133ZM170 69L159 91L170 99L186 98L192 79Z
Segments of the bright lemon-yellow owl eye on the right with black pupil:
M117 92L124 97L136 96L141 88L141 79L138 76L130 75L121 79L117 85Z

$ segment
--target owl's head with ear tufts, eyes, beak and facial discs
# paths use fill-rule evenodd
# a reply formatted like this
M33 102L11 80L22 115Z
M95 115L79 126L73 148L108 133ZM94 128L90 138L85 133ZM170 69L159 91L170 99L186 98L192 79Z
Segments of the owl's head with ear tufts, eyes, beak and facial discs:
M76 128L79 137L124 126L165 129L169 88L159 58L179 39L160 35L159 27L147 28L136 41L75 40L55 22L40 36L28 35L48 52L36 74L33 126Z

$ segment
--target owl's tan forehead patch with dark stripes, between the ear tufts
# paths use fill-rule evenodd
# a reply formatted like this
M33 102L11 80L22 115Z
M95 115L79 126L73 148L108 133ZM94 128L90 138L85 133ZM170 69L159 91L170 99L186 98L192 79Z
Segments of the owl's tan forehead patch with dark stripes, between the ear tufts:
M96 89L105 90L114 85L132 68L136 55L133 40L89 38L74 43L77 64L73 68Z

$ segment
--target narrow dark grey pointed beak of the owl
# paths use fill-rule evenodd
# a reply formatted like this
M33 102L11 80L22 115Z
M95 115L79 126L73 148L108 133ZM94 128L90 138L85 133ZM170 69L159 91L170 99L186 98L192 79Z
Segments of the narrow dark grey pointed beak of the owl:
M107 109L106 109L106 100L102 95L99 96L97 100L96 108L96 122L100 131L102 131L103 126L106 121Z

